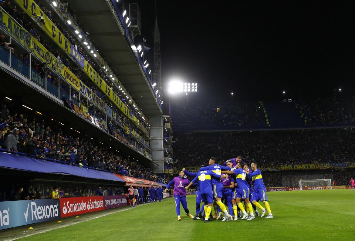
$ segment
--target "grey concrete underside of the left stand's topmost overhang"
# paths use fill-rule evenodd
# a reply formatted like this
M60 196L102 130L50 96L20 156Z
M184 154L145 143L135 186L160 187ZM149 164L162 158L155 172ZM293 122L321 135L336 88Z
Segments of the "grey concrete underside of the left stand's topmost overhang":
M75 10L77 20L85 24L91 40L94 40L106 56L110 67L116 70L124 86L143 108L144 114L162 114L154 90L125 39L119 18L114 17L116 14L113 13L111 1L75 0L70 4L71 9Z

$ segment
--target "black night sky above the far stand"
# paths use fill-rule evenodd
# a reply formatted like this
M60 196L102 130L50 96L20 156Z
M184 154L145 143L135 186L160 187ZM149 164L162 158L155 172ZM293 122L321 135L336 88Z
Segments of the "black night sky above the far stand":
M154 1L136 2L143 32L136 43L147 39L153 63ZM203 102L232 91L248 100L277 100L282 91L332 97L334 88L353 95L354 9L354 1L157 0L163 84L197 82L194 100Z

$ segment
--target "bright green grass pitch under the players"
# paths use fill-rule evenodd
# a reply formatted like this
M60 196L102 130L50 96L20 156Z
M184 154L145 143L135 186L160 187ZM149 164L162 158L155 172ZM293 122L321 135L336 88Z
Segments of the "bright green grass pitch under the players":
M268 192L273 219L203 223L178 221L173 198L85 221L26 240L353 240L355 192L313 190ZM195 214L195 195L187 197ZM62 219L63 221L65 219Z

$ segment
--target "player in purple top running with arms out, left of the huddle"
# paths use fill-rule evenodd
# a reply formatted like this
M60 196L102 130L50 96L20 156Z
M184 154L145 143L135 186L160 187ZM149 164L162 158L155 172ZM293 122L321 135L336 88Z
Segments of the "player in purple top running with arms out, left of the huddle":
M165 192L169 192L169 188L174 184L174 201L176 205L176 214L178 214L178 221L181 221L180 217L180 203L182 208L184 208L187 217L193 218L189 213L189 208L187 208L186 201L186 189L185 187L189 184L189 179L185 176L184 171L179 172L179 176L176 176L171 180L166 186Z

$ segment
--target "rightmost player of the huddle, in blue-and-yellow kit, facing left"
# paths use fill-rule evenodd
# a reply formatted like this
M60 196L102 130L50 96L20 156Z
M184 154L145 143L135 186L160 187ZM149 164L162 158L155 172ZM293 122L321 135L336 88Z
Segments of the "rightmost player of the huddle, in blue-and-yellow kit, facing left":
M268 215L266 216L266 218L273 218L274 216L271 213L270 205L267 201L266 187L263 182L263 177L261 176L261 171L258 169L258 164L255 161L253 161L250 167L253 172L246 171L246 173L252 177L254 183L254 193L253 193L252 203L257 208L260 208L263 211L261 217L264 217L267 210ZM262 201L265 204L266 209L263 208L260 205L260 203L257 202L258 199L260 199L260 201Z

